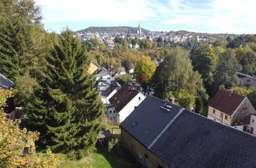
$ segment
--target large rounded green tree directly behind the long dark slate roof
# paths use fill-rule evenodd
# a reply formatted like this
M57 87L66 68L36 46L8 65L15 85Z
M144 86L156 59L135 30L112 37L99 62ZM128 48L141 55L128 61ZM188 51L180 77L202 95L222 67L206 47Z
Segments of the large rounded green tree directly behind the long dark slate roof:
M154 78L155 95L168 99L175 97L179 104L191 110L198 95L207 98L198 72L194 72L186 50L171 50L157 67Z

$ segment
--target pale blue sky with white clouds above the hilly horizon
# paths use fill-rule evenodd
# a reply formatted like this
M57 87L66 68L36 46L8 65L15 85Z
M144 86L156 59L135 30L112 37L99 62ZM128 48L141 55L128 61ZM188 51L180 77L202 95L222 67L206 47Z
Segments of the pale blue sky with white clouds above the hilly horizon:
M147 30L256 34L255 0L34 0L46 30L138 26Z

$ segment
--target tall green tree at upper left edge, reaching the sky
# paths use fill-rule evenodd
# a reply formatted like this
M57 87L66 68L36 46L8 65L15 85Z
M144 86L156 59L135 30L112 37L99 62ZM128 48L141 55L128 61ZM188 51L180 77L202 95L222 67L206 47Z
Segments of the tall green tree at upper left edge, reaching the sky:
M42 16L32 0L2 0L0 6L0 66L2 74L15 80L34 63L31 30Z

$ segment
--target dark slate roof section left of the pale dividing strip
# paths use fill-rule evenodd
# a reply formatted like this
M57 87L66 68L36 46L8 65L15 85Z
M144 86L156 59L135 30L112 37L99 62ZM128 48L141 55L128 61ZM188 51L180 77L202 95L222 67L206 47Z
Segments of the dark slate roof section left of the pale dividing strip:
M166 112L166 110L160 108L164 104L166 104L165 101L148 96L139 106L135 107L134 112L122 122L121 127L132 134L144 146L150 146L154 138L182 109L182 107L172 105L172 110Z

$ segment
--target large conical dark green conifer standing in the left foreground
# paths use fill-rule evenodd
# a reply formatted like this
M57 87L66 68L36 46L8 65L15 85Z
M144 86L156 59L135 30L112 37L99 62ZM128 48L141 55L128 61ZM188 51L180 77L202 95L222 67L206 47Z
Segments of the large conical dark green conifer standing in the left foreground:
M104 114L96 81L86 72L90 58L66 30L46 62L22 125L39 131L39 149L81 156L94 148Z

